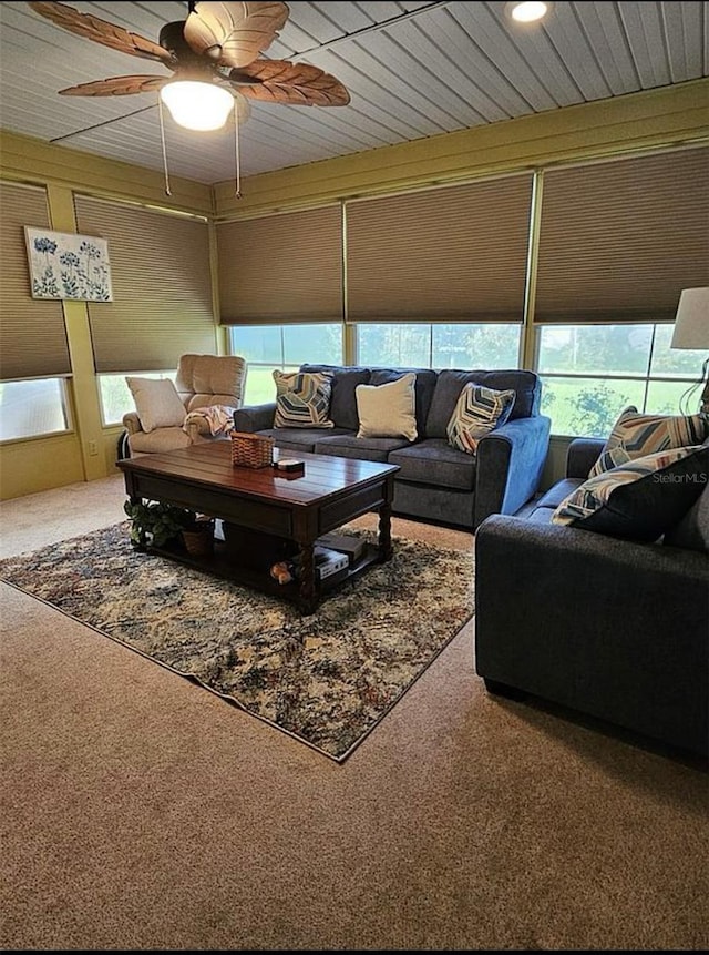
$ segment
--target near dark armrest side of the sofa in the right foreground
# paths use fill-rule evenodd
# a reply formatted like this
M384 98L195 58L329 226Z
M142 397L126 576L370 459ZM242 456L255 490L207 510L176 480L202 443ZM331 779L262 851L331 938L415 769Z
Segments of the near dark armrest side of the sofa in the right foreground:
M500 515L477 529L486 680L706 751L708 633L703 553Z

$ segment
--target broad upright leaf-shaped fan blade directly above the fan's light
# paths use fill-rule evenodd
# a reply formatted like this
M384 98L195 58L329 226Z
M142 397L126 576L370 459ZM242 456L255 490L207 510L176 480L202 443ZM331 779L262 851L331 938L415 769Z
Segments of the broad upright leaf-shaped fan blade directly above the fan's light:
M286 3L197 3L185 40L223 67L245 67L269 47L288 19Z

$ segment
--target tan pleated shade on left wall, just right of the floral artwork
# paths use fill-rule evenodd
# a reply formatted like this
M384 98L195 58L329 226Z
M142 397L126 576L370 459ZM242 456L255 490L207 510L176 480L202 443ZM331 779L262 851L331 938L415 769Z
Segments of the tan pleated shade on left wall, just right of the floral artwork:
M89 303L96 372L176 368L216 353L207 223L75 196L78 230L109 244L113 302Z

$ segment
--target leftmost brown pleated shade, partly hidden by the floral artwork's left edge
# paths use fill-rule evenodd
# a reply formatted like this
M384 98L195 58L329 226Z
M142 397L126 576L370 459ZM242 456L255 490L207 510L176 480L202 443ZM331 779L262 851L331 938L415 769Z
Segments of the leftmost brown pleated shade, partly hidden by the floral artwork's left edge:
M4 382L71 373L62 303L31 295L25 225L51 228L47 193L0 183L0 378Z

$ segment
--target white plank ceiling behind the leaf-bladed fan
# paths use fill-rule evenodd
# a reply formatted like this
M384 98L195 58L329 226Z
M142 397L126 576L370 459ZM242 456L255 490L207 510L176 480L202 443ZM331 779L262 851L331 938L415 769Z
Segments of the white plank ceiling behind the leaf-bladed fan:
M186 3L83 3L157 41ZM312 63L351 103L253 103L242 129L251 175L709 75L709 3L556 2L543 24L513 24L504 2L291 2L265 55ZM163 167L154 93L102 99L59 90L158 63L76 37L27 3L0 4L0 126L103 156ZM203 183L234 175L228 130L166 123L171 172Z

